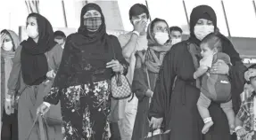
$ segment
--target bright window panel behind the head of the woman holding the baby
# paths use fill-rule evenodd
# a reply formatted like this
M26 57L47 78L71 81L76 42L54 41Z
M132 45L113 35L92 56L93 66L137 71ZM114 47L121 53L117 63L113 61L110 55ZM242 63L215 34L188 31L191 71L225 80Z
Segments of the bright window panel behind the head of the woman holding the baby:
M193 0L193 1L186 0L185 2L186 2L187 14L189 15L188 18L190 18L190 14L194 9L194 7L201 4L206 4L211 6L217 15L217 26L219 27L219 31L223 35L228 35L225 16L222 10L222 5L220 0Z

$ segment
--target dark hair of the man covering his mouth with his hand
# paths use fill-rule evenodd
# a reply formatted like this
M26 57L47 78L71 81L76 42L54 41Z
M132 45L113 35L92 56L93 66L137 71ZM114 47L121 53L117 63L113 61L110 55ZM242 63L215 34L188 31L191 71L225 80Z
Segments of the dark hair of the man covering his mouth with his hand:
M138 11L138 9L140 9L141 11ZM144 4L134 4L129 9L129 12L128 12L129 19L131 19L133 16L137 16L137 15L140 15L142 13L145 13L146 18L149 19L149 12L148 12L147 7Z

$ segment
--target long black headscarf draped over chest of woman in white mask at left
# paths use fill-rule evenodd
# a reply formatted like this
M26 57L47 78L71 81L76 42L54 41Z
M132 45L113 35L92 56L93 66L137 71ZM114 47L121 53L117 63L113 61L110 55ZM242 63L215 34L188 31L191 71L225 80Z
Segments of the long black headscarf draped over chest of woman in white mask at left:
M21 71L27 85L38 85L45 81L48 71L45 52L54 48L56 43L51 23L38 13L30 13L27 19L30 17L37 19L39 38L37 43L30 37L21 43Z

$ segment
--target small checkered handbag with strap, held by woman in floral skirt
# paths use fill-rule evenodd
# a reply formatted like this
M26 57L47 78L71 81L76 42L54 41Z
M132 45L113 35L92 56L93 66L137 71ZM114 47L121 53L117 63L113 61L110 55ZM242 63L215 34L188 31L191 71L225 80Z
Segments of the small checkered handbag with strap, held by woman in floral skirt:
M117 59L112 44L111 44L111 49L113 52L113 58ZM132 93L131 85L128 82L127 77L124 74L115 73L111 77L111 97L113 97L114 99L120 100L120 99L128 98L130 96L132 97L131 99L128 100L128 102L130 102L133 99L134 94Z

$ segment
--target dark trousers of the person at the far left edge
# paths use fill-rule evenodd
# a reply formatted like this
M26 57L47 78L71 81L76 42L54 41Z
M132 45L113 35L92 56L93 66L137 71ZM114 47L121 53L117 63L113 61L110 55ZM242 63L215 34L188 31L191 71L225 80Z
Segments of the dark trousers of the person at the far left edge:
M18 140L18 113L15 110L11 115L7 115L5 110L2 116L1 140Z

